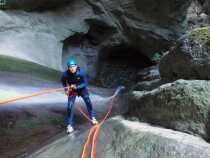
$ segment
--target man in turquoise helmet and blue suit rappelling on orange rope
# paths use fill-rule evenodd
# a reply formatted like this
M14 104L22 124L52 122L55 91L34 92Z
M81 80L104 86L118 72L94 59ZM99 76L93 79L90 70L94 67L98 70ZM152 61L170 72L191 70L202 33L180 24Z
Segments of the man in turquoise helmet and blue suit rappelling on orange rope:
M77 96L82 97L84 100L92 124L95 125L98 121L96 120L96 114L93 110L92 102L87 89L88 82L86 72L78 66L77 61L73 58L68 60L67 67L68 69L62 74L61 82L63 87L65 87L65 93L68 96L66 132L69 134L74 131L73 115L74 104Z

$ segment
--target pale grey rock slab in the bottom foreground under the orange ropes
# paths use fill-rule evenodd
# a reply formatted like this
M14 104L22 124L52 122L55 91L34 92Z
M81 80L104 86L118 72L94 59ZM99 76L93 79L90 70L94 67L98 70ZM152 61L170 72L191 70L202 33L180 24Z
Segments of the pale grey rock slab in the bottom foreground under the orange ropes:
M78 135L83 140L87 133ZM77 139L78 140L78 139ZM29 158L79 157L83 141L63 137ZM206 158L210 145L200 138L148 124L114 118L102 127L96 157L100 158Z

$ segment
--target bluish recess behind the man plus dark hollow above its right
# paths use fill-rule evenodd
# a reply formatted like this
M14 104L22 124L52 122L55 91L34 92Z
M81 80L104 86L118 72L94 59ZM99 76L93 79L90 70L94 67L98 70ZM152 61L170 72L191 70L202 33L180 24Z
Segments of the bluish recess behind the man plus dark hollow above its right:
M85 21L89 25L87 33L75 32L62 41L62 67L65 69L67 60L73 57L87 71L89 82L94 83L98 50L101 44L115 33L116 29L97 19L86 19Z

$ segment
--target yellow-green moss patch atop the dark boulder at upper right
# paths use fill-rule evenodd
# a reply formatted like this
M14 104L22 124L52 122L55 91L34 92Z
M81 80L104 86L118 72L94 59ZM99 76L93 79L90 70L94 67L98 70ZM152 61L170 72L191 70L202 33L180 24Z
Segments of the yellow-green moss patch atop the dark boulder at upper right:
M191 40L206 43L210 40L210 26L195 29L188 34L188 37Z

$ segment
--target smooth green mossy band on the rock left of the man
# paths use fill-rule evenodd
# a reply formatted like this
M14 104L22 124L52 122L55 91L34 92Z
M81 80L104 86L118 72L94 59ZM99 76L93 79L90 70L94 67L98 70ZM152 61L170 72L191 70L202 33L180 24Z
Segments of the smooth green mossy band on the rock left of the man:
M61 72L26 60L0 55L0 71L21 72L42 79L59 81Z

